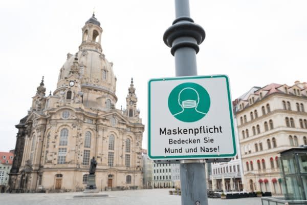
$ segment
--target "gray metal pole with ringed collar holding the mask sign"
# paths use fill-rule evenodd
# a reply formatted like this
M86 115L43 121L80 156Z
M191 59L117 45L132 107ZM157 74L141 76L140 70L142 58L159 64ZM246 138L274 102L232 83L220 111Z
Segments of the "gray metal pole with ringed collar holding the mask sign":
M164 33L164 43L175 57L176 76L197 75L196 53L205 39L204 29L190 18L189 0L175 0L176 19ZM204 160L181 160L181 204L207 205Z

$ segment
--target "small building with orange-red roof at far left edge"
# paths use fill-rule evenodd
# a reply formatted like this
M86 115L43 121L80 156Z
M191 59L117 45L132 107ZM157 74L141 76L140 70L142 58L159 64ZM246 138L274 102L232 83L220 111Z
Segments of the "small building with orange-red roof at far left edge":
M7 189L14 152L0 152L0 191Z

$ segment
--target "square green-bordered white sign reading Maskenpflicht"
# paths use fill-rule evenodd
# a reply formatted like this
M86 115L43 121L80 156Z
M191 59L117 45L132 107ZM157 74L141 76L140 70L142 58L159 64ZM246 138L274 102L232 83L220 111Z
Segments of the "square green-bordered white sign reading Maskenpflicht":
M148 156L151 159L235 155L228 76L148 81Z

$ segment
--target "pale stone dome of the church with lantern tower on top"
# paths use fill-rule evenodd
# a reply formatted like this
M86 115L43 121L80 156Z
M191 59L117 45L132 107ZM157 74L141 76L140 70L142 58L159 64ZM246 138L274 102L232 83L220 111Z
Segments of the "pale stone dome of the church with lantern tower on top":
M116 77L113 63L102 53L101 33L100 23L93 15L82 28L79 51L74 55L67 54L67 61L60 69L55 94L68 86L67 79L70 76L77 74L82 92L92 93L92 90L95 90L95 98L99 93L99 96L111 96L112 103L116 103Z

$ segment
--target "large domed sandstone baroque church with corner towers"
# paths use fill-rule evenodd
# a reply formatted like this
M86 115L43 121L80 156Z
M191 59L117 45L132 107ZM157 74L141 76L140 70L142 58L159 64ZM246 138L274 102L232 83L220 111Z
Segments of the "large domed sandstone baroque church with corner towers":
M79 51L67 54L57 88L46 95L43 79L26 117L15 127L11 192L82 191L90 160L97 160L99 190L142 188L144 125L133 79L126 108L116 109L113 63L101 48L95 14L82 28Z

